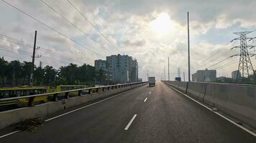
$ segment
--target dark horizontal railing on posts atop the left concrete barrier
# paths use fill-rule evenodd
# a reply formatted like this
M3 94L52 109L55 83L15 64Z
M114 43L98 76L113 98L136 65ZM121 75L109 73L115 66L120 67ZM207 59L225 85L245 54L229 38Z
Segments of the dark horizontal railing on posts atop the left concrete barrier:
M119 88L123 88L123 87L129 87L132 85L144 84L144 83L147 83L147 82L133 82L133 83L127 83L127 84L115 84L115 85L102 86L102 87L89 87L89 88L84 88L84 89L73 89L73 90L68 90L68 91L64 91L64 92L51 92L51 93L46 93L46 94L35 94L35 95L22 96L22 97L10 97L10 98L0 99L0 103L12 101L12 100L26 99L26 100L28 100L27 106L32 107L35 105L34 101L35 101L36 97L47 97L47 99L49 99L49 97L52 97L52 101L57 102L58 97L63 97L63 95L64 95L65 99L70 98L71 92L76 93L76 95L74 97L81 97L86 94L92 94L95 92L105 92L105 91L109 91L109 90L113 90L113 89L119 89ZM86 94L82 94L82 92L85 92Z

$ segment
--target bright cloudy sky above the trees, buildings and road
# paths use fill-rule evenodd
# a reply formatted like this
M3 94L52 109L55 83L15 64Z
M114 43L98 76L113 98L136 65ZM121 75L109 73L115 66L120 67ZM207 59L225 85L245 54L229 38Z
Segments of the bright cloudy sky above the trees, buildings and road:
M14 7L10 6L15 6ZM139 77L188 80L187 11L190 14L191 74L216 69L217 77L237 70L239 45L233 32L256 29L254 0L0 0L0 56L35 64L91 64L113 54L139 63ZM24 14L25 13L25 14ZM27 15L26 15L27 14ZM248 34L256 36L256 31ZM250 41L248 44L255 44ZM256 53L250 49L251 53ZM256 68L256 59L251 57Z

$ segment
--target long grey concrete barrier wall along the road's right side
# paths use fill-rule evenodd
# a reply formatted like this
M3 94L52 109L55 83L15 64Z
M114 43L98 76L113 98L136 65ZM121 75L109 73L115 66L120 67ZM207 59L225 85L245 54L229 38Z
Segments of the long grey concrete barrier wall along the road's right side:
M166 82L177 89L182 82ZM189 82L187 94L256 129L256 86Z

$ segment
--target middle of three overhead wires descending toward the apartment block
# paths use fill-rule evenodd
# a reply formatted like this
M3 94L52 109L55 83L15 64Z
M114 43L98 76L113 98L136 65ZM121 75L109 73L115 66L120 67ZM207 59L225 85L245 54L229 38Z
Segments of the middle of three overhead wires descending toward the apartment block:
M63 16L62 14L60 14L60 12L58 12L56 9L53 9L52 6L50 6L50 4L47 4L47 2L40 0L43 4L45 4L48 8L52 9L52 11L54 11L56 14L58 14L59 16L61 16L65 21L67 21L69 24L71 24L73 27L75 27L76 29L78 29L78 31L80 31L82 34L85 34L86 37L88 39L90 39L91 41L93 41L95 44L97 44L98 46L102 46L104 49L106 49L105 46L97 43L95 40L93 40L90 36L88 36L88 34L86 34L85 31L83 31L83 29L79 28L78 26L76 26L76 24L73 24L73 22L69 21L67 18L65 18L65 16ZM108 49L106 49L106 51L109 51ZM111 53L111 51L109 51L109 53Z

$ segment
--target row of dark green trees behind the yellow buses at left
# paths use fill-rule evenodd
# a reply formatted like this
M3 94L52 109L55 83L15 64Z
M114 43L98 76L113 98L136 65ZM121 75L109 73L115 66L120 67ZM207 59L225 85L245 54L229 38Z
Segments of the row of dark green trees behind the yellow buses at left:
M19 60L6 61L0 57L0 87L13 87L29 84L32 62ZM52 66L35 66L33 85L59 85L59 84L106 84L106 74L101 69L95 71L94 66L70 63L68 66L60 66L54 69Z

